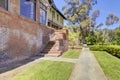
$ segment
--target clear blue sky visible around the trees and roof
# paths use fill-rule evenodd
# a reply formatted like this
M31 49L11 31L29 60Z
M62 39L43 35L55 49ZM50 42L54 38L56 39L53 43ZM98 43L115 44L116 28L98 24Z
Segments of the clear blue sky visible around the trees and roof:
M64 0L54 0L56 7L63 13L62 6L65 5ZM120 0L98 0L98 3L93 7L92 11L100 10L100 15L97 18L97 24L103 23L103 28L106 27L105 20L108 14L113 13L120 18ZM92 12L91 11L91 12ZM66 24L66 21L64 22ZM110 28L116 28L120 25L120 21L117 24L110 26Z

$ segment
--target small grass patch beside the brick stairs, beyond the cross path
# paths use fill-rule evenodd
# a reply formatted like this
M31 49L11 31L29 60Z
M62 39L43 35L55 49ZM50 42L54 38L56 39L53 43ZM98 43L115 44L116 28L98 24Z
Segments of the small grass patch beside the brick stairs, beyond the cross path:
M64 58L78 58L80 55L80 50L68 50L63 53L62 57Z

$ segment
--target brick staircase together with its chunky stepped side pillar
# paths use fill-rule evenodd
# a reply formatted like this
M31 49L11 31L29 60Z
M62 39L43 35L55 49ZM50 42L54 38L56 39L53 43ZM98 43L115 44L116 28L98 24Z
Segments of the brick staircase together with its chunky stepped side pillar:
M55 30L53 35L50 35L50 41L39 54L42 56L58 57L63 52L68 50L68 32L67 30Z

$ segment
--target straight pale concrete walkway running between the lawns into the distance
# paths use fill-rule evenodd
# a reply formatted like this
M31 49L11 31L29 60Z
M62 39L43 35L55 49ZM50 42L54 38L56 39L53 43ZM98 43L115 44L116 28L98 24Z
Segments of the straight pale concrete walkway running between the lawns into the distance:
M107 80L94 55L83 48L69 80Z

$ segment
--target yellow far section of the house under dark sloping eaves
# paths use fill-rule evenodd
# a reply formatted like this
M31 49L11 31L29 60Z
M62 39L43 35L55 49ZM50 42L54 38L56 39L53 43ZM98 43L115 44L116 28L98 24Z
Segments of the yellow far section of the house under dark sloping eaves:
M64 26L65 16L57 9L53 0L49 0L49 4L51 5L48 8L48 26L55 29L62 29Z

